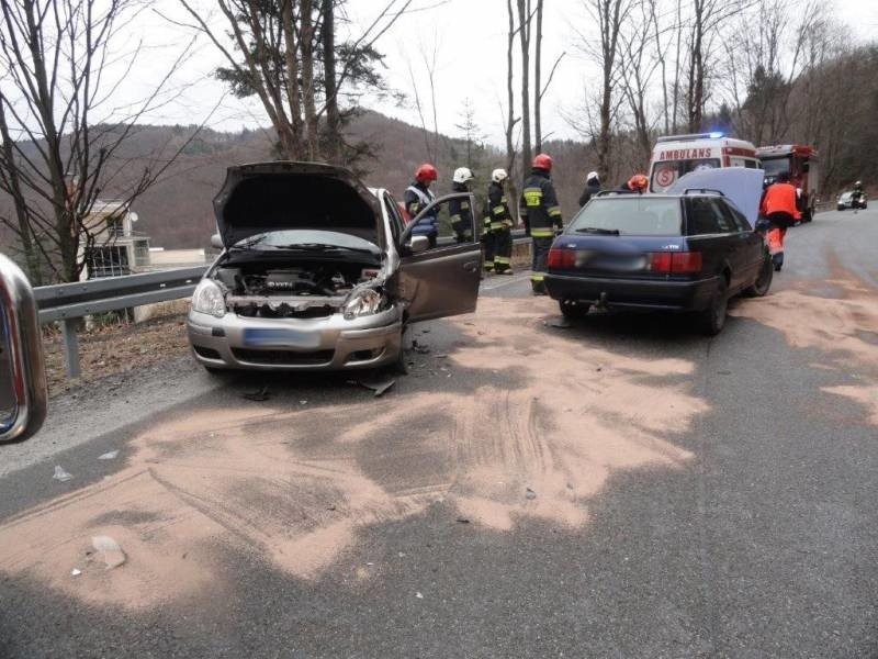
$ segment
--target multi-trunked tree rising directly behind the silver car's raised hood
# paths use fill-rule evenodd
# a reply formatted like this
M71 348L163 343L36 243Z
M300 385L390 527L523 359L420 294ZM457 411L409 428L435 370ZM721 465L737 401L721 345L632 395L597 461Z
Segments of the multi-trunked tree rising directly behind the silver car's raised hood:
M345 44L335 40L335 12L344 0L216 0L225 19L222 29L191 0L179 1L192 18L190 26L205 34L228 65L218 76L239 96L259 98L285 157L344 159L338 97L357 85L375 85L379 77L370 64L381 55L374 45L414 0L387 0L365 30ZM324 115L327 154L319 138Z

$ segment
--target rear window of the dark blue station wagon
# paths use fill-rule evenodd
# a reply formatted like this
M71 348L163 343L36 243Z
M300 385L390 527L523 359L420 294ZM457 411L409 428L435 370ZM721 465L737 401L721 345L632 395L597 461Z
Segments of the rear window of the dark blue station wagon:
M678 198L638 194L595 199L573 219L569 231L622 236L678 236L682 227Z

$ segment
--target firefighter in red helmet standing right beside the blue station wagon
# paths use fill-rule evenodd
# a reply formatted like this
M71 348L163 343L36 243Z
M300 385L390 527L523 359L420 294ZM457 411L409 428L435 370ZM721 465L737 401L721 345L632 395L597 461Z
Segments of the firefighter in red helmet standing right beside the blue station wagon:
M539 154L533 158L530 176L525 180L519 202L525 228L532 241L533 267L530 283L534 295L545 294L545 261L555 234L563 228L561 206L550 178L552 158Z

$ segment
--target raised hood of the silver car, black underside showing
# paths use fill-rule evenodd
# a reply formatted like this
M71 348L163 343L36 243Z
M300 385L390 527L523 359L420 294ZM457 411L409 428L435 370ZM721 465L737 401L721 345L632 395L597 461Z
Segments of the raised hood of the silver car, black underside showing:
M352 171L322 163L235 165L213 200L216 227L230 247L279 230L333 231L381 245L381 206Z

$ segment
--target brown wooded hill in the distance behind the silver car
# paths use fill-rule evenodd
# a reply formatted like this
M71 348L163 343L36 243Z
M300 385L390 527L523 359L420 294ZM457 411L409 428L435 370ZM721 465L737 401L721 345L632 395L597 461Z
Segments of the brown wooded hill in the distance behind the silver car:
M212 200L223 183L226 168L272 158L273 134L270 130L244 130L239 133L202 130L187 144L194 130L194 126L180 125L137 126L110 168L111 171L119 169L120 174L102 191L106 199L124 189L126 178L137 176L145 166L160 166L183 147L159 181L133 204L138 215L136 231L148 235L153 246L168 249L206 246L216 226ZM398 199L409 185L414 170L427 159L427 142L436 146L439 154L437 192L450 191L453 169L465 164L464 142L440 135L435 145L431 134L425 138L421 129L378 112L363 112L351 123L348 133L351 141L367 141L374 145L375 158L359 164L368 171L364 181L387 188ZM587 171L578 165L587 149L574 142L551 143L545 149L555 158L559 197L565 217L570 217L577 208L576 200ZM476 192L482 196L492 169L503 167L505 158L497 149L487 146L479 149L474 159L477 161ZM8 208L8 200L0 199L0 204ZM4 238L3 242L10 239L9 232L0 231L0 237Z

